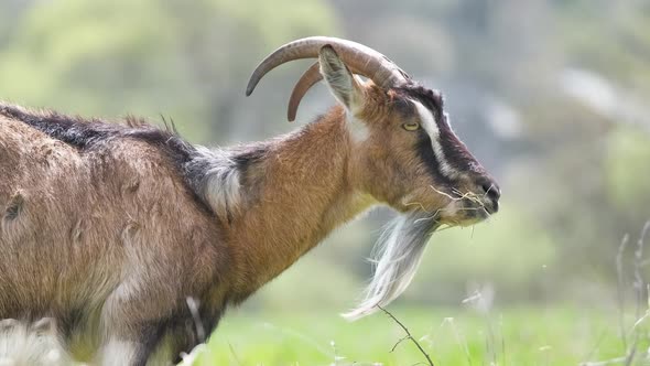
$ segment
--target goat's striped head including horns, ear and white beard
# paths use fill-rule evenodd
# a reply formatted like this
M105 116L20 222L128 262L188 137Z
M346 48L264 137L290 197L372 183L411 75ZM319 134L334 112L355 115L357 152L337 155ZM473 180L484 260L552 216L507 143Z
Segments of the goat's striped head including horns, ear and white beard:
M347 314L355 319L407 288L437 227L472 225L497 212L500 190L452 130L442 95L361 44L322 36L288 43L258 66L247 95L273 67L308 57L318 62L295 85L289 120L308 88L324 78L346 109L358 189L404 214L380 240L366 299Z

